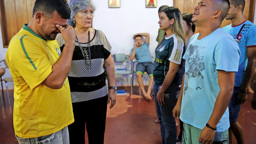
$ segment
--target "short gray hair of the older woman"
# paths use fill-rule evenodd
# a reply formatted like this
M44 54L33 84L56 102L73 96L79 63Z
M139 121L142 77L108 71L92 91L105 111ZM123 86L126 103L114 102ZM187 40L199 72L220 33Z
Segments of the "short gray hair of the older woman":
M94 5L92 0L69 0L68 5L70 7L71 14L70 18L67 20L67 24L73 27L76 26L73 18L76 16L77 12L86 9L88 6L93 7L93 12L96 10L96 6Z

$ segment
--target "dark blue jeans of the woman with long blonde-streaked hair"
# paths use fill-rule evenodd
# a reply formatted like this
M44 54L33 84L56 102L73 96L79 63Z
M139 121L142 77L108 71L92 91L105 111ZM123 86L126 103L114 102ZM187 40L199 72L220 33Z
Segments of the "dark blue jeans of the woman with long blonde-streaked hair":
M156 97L160 87L161 86L157 86L156 84L153 85L154 98L157 105L158 102L156 101ZM172 110L177 102L176 95L171 95L169 92L165 92L164 102L165 104L162 106L160 105L162 117L162 121L160 121L161 136L164 144L176 144L177 127L175 118L172 116Z

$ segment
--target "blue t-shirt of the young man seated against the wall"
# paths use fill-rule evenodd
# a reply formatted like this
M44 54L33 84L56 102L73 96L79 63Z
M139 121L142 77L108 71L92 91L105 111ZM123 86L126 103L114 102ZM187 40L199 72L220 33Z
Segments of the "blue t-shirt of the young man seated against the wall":
M131 52L133 51L133 49L134 48L131 49ZM135 58L138 63L153 62L147 43L144 42L142 46L136 48Z

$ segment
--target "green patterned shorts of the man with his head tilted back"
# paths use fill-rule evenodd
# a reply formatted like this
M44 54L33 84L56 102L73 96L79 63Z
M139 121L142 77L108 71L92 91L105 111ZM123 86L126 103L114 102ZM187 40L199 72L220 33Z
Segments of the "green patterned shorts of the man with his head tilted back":
M183 123L182 144L201 144L198 142L201 131L190 124ZM228 130L215 132L213 144L228 144L228 140Z

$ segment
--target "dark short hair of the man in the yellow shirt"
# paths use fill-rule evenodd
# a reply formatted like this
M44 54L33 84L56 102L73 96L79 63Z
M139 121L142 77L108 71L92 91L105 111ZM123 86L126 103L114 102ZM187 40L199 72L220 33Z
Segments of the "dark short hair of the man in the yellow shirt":
M32 17L36 12L42 12L45 17L52 17L54 11L63 19L70 18L70 8L66 0L36 0Z

